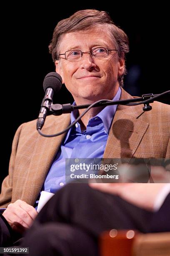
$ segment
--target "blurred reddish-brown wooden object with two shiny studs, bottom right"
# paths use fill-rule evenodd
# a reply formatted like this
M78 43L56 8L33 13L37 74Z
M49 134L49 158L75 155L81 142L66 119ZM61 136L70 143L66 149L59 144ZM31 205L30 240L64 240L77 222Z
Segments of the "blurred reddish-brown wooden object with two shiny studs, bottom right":
M170 256L170 232L112 229L102 233L99 246L100 256Z

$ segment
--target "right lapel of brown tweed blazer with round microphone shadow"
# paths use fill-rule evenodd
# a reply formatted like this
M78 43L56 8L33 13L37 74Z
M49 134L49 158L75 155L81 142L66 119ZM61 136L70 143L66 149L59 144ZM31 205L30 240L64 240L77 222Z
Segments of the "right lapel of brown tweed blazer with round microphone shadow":
M120 100L133 98L122 90ZM103 158L132 158L149 124L138 119L142 105L118 105L112 121Z

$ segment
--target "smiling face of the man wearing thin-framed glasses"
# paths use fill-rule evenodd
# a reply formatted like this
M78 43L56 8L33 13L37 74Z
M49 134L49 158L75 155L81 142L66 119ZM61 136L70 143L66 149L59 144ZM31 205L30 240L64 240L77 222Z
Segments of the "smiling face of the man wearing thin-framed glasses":
M103 26L65 34L59 53L64 54L72 49L86 52L97 47L116 49L107 28ZM83 54L80 61L74 62L63 59L64 55L60 57L62 59L55 61L56 72L61 75L75 102L111 100L114 97L119 87L117 78L124 71L124 59L118 58L117 51L109 51L109 55L102 59Z

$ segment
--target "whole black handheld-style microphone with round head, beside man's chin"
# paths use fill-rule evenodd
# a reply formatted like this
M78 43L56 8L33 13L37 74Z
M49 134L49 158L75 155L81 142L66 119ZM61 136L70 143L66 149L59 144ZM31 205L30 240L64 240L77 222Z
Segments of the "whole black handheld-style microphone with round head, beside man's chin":
M53 94L60 91L61 85L62 78L58 73L50 72L45 76L43 82L45 97L41 103L40 114L37 119L37 129L42 129L47 113L51 108Z

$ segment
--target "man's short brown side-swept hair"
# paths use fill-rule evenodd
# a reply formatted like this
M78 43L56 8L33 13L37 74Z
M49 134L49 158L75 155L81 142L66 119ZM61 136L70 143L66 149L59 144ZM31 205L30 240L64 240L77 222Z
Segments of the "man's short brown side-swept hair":
M90 30L96 26L107 26L110 31L110 37L112 38L117 48L119 58L125 59L125 54L129 52L129 40L128 36L122 31L121 28L116 26L110 15L105 11L99 11L94 9L79 10L69 18L60 20L54 29L52 41L49 45L49 52L52 54L52 59L58 59L59 44L66 33L75 31ZM124 74L126 74L126 68ZM118 77L120 86L123 86L123 77Z

